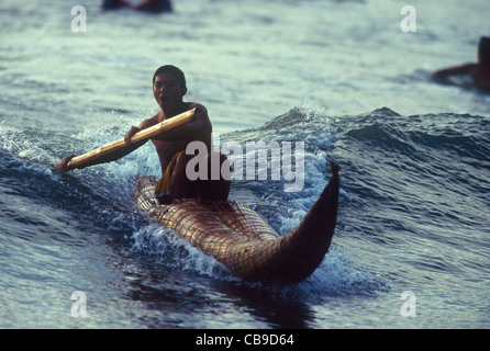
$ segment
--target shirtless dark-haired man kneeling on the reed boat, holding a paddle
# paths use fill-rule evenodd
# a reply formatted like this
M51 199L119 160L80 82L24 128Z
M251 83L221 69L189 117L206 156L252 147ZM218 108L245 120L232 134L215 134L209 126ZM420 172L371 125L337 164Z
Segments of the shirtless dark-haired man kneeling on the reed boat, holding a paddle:
M144 120L140 126L131 127L124 140L129 144L135 133L196 107L194 118L191 122L152 138L163 173L155 189L155 195L162 204L169 204L178 199L226 201L230 192L230 174L223 174L221 170L230 167L229 161L224 155L212 149L212 125L207 109L199 103L185 102L186 93L183 72L171 65L159 67L153 77L153 95L162 111ZM207 179L189 180L188 162L194 157L202 157L202 155L186 154L186 148L191 141L202 143L208 149L205 160L197 163L198 167L205 165ZM71 158L73 156L65 158L58 168L63 170ZM219 165L212 162L213 160L219 160ZM220 176L219 179L212 179L211 167L216 166L220 167L218 171Z

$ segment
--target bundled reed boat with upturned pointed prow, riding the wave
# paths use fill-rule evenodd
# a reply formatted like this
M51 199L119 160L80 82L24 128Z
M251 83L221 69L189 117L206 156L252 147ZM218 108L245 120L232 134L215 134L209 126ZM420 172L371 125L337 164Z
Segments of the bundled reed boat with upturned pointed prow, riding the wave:
M157 179L141 177L134 194L141 211L162 226L252 282L299 283L310 276L328 251L338 208L339 167L309 213L294 229L280 236L256 212L235 202L181 200L159 205Z

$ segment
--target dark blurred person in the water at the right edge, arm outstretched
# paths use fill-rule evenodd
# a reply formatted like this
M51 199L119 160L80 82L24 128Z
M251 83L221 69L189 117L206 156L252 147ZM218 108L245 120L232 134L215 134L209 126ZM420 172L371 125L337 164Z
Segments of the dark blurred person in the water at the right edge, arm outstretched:
M475 83L490 90L490 37L482 36L478 45L478 63L444 68L433 73L435 78L445 78L453 75L470 75Z

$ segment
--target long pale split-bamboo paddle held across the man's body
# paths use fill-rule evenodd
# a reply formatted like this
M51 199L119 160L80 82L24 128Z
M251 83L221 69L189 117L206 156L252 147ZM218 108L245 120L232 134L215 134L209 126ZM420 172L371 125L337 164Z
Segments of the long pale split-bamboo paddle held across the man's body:
M146 129L140 131L132 136L129 144L126 144L126 141L124 141L124 138L122 138L105 144L87 154L76 156L68 161L66 167L60 169L63 171L69 171L75 168L85 168L88 166L115 161L121 157L134 151L140 146L144 145L149 138L192 121L194 117L194 113L196 107L178 114L171 118L165 120Z

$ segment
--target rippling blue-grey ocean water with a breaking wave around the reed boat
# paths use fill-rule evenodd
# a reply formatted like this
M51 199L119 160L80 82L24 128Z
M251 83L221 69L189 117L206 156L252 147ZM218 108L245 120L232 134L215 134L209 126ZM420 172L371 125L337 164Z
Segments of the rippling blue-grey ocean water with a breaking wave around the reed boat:
M403 32L405 4L176 0L151 14L3 0L0 327L489 328L490 94L431 71L476 60L490 5L411 1L416 32ZM156 113L164 64L186 72L222 143L304 143L302 191L232 185L279 233L339 163L336 234L305 282L242 282L138 213L134 179L159 176L149 144L53 168Z

